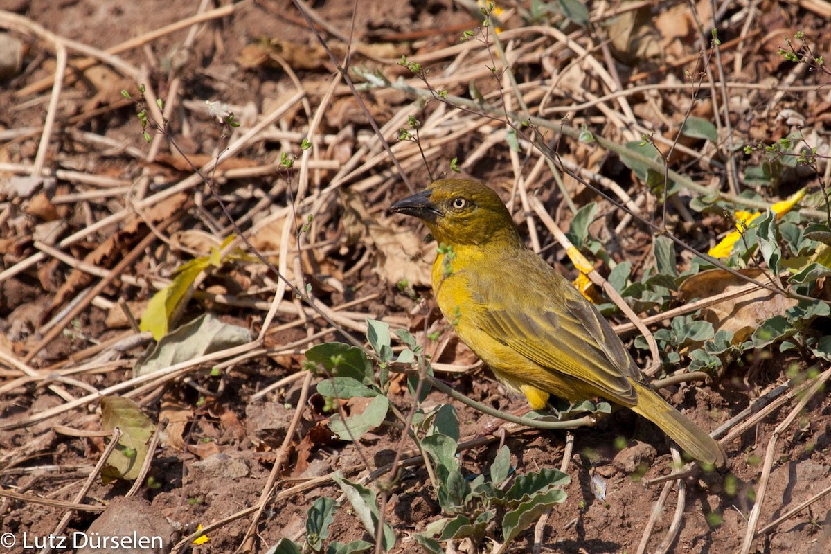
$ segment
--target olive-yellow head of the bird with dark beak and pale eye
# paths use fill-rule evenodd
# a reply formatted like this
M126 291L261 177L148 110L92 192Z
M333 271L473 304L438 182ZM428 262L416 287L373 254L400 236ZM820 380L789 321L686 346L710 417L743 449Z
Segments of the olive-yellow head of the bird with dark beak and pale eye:
M493 189L478 181L439 179L390 209L420 218L440 244L521 244L508 208Z

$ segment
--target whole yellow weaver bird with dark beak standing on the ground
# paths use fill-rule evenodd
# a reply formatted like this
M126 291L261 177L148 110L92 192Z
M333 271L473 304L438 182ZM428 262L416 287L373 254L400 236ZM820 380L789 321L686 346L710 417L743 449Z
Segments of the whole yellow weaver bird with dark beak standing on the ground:
M720 445L643 380L612 326L565 277L525 248L502 200L484 184L440 179L394 203L420 218L442 247L433 263L436 302L462 341L509 389L543 409L550 395L596 396L652 421L704 463Z

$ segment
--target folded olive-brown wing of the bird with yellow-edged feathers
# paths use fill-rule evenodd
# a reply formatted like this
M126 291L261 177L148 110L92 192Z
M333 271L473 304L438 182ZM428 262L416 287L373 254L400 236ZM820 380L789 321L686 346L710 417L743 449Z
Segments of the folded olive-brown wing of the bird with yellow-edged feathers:
M477 314L479 328L546 370L583 381L597 395L636 404L629 378L642 377L608 321L559 274L551 285L547 297L531 305L509 297L511 287L475 287L486 306Z

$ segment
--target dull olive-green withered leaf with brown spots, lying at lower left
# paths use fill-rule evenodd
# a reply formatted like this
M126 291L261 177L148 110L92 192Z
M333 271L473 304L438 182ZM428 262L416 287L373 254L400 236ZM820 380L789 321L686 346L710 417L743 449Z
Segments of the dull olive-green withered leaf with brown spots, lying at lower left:
M121 430L121 436L106 459L108 471L115 470L115 473L109 474L127 480L138 478L147 458L147 443L155 432L155 425L134 400L104 396L101 398L101 429L111 432L116 427Z

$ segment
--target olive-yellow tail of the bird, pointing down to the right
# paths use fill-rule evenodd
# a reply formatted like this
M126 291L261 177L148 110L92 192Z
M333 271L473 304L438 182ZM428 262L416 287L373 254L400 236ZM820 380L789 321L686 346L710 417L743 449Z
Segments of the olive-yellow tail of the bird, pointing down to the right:
M704 429L694 424L646 385L635 386L637 405L631 407L632 411L660 427L693 458L704 463L712 463L716 467L725 464L724 450Z

